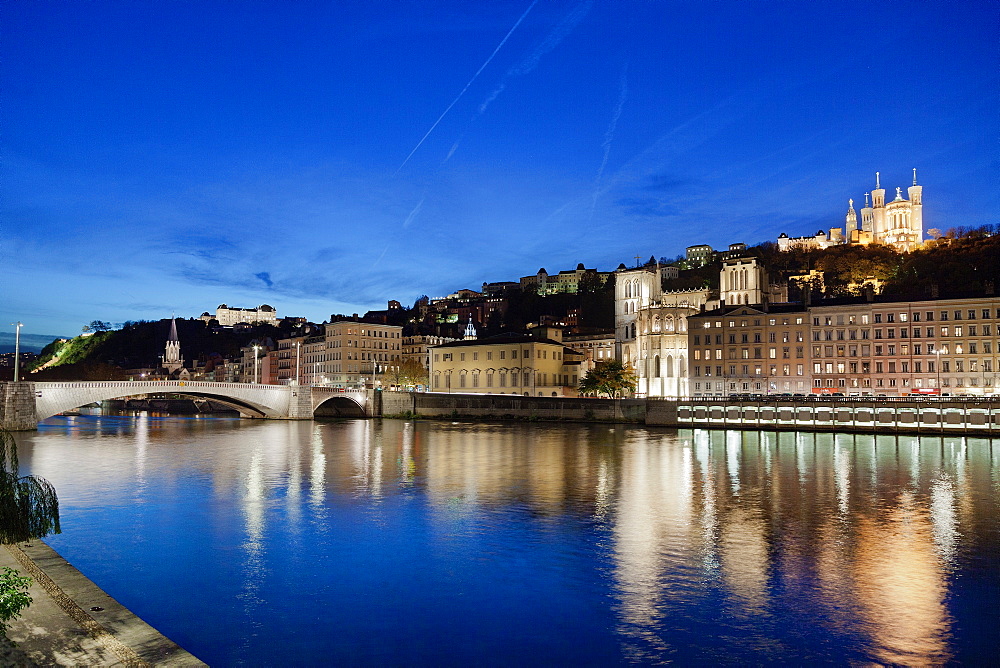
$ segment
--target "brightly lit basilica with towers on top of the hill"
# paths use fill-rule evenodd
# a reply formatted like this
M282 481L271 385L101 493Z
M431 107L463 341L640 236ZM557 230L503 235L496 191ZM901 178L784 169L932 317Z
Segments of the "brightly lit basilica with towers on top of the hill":
M848 200L844 227L832 227L829 232L819 230L811 237L789 237L784 232L778 237L778 249L823 249L838 244L885 244L898 251L910 251L923 243L923 186L917 185L917 170L913 170L913 185L907 188L910 199L903 199L903 189L896 188L896 198L886 204L885 190L880 174L875 172L875 189L865 193L865 206L861 221L854 209L854 200ZM869 203L869 196L871 202Z

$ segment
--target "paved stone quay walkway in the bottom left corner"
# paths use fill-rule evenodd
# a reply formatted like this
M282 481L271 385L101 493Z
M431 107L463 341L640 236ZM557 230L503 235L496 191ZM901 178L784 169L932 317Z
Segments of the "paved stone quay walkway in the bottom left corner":
M204 666L35 540L0 547L31 577L31 606L0 637L3 666Z

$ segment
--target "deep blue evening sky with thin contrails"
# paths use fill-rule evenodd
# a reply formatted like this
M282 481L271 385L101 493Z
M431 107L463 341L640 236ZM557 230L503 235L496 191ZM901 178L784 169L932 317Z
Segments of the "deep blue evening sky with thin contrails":
M996 223L1000 4L3 2L0 331Z

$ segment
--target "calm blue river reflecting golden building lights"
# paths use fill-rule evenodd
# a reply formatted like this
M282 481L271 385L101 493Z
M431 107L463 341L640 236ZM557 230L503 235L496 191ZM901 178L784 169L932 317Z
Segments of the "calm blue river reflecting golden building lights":
M48 542L213 666L994 660L1000 441L54 418Z

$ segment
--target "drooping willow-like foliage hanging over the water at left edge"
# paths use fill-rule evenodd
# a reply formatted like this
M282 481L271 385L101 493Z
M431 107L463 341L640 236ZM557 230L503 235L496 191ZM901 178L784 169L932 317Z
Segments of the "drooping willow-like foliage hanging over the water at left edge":
M0 430L0 543L20 543L60 533L59 498L39 476L20 477L17 443Z

